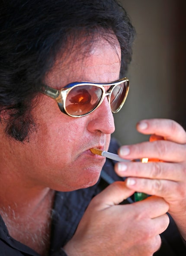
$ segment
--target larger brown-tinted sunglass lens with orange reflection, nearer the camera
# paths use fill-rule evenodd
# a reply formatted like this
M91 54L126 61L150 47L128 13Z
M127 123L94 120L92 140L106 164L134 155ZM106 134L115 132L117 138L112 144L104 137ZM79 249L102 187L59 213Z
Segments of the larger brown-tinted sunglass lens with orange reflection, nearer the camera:
M102 89L94 85L76 86L67 94L66 111L74 116L86 115L97 107L102 95Z

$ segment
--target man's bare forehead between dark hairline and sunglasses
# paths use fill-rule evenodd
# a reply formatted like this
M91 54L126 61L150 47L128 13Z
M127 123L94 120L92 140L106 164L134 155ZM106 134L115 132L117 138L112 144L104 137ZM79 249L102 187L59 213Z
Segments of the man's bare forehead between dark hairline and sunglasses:
M116 37L97 39L90 45L77 42L69 52L59 53L45 77L48 86L60 89L71 82L112 82L119 78L121 49Z

